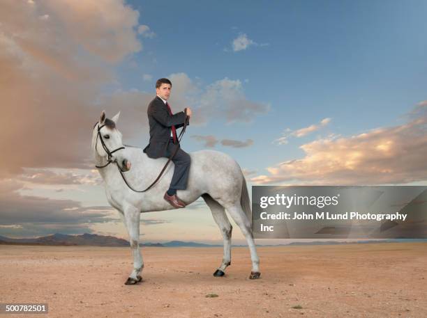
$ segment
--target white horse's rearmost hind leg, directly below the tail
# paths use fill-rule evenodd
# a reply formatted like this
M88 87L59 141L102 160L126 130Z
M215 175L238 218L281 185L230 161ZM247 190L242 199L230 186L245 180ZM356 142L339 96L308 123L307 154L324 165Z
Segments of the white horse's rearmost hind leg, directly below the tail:
M250 271L250 279L260 278L260 258L257 255L255 248L255 241L253 241L252 227L250 220L246 216L244 210L241 208L240 202L234 205L225 205L225 210L233 218L234 222L239 225L241 232L244 234L248 242L250 250L250 260L252 260L252 271Z

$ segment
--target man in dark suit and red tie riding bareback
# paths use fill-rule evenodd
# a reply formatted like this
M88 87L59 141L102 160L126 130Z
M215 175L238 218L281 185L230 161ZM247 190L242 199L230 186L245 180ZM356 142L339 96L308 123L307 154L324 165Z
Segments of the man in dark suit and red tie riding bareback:
M175 164L174 175L170 182L169 190L166 191L165 200L173 207L185 207L186 203L177 196L178 189L186 189L188 172L190 171L190 156L178 145L177 128L183 127L184 120L191 117L191 109L187 107L184 111L172 114L167 100L170 97L172 83L169 79L158 79L156 82L156 98L154 98L147 110L150 125L150 142L144 152L150 158L169 158L176 147L179 147L172 161Z

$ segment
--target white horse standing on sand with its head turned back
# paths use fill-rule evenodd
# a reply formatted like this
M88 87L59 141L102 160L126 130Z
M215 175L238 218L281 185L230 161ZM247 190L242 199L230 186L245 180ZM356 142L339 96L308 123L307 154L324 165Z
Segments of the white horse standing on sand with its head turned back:
M98 168L104 180L107 200L119 211L129 234L130 248L133 251L133 271L125 284L133 285L142 280L140 273L144 267L139 246L140 214L174 209L163 198L163 193L169 188L172 179L174 164L170 162L160 180L149 191L138 193L131 190L122 179L118 167L126 171L123 175L128 184L140 191L156 180L167 158L151 159L141 148L131 146L124 148L121 133L116 127L119 114L120 112L110 120L106 118L105 111L101 113L99 122L93 127L91 148L96 165L107 164L105 168ZM231 264L232 225L225 214L227 211L239 225L248 242L252 260L249 278L259 278L260 259L253 240L248 189L239 164L227 154L213 150L190 153L190 158L187 189L178 190L177 194L187 205L202 196L223 234L223 261L213 276L224 276L225 268ZM109 159L112 164L108 164Z

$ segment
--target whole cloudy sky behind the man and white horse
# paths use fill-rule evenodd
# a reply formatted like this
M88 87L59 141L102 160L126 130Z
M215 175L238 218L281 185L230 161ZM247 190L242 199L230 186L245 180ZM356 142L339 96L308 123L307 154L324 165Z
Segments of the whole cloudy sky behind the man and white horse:
M193 109L183 150L229 154L250 193L426 185L426 13L415 0L1 1L0 235L127 239L91 129L120 111L123 143L144 148L160 77L172 111ZM142 214L140 238L222 241L201 200Z

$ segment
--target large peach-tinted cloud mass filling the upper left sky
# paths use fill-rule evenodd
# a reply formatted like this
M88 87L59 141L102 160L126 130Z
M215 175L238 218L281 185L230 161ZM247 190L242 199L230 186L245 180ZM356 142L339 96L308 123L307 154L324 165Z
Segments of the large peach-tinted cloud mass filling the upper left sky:
M142 49L138 17L123 1L1 1L0 177L87 167L100 92Z

